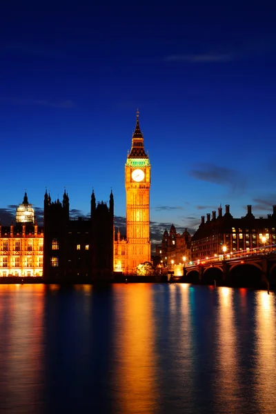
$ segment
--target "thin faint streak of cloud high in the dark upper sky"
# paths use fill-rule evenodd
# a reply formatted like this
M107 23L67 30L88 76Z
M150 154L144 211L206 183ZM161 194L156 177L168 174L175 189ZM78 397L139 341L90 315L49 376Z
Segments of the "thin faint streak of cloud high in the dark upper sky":
M231 53L199 53L168 55L164 57L164 61L188 63L219 63L232 61L234 58L234 55Z

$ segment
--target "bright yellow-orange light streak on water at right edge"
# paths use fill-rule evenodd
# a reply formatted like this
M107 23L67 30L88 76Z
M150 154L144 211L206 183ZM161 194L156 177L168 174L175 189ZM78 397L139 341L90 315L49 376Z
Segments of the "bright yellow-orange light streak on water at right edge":
M259 411L265 414L275 412L276 372L275 364L272 363L276 359L275 295L268 295L261 290L256 295L256 394Z

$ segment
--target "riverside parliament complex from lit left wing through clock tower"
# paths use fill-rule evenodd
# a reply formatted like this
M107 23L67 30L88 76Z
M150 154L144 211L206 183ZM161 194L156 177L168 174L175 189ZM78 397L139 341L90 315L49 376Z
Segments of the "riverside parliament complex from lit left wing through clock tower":
M43 226L37 226L27 193L16 223L0 225L0 277L43 276L48 282L110 279L135 274L150 262L150 160L137 110L132 146L125 164L126 236L115 235L114 197L96 201L92 191L90 219L70 219L69 197L52 201L44 195Z

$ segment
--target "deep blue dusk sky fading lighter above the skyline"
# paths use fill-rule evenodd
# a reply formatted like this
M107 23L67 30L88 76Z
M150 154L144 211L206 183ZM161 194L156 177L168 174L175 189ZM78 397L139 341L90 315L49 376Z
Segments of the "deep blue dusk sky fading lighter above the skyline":
M273 1L6 3L2 224L25 189L41 215L45 189L57 199L66 187L72 217L88 215L92 188L97 201L112 188L122 226L137 108L151 163L152 239L172 223L196 229L219 204L234 217L247 204L257 217L272 213Z

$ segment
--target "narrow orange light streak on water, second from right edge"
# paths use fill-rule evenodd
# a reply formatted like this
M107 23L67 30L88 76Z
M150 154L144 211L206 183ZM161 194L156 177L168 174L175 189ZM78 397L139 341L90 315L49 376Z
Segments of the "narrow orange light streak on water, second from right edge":
M219 308L217 318L217 384L215 393L218 404L227 407L227 413L236 413L235 396L239 391L237 366L237 332L234 323L233 289L218 288Z

